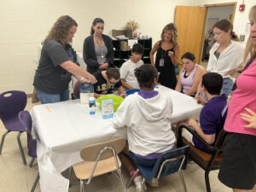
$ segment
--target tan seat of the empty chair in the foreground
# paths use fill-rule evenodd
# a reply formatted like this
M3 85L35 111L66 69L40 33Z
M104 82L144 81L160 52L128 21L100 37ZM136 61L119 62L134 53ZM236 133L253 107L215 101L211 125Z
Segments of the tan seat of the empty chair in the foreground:
M122 166L118 156L117 156L117 159L119 162L119 167ZM89 178L94 164L95 164L95 161L83 161L81 163L73 165L73 171L75 172L76 177L82 180ZM116 170L117 168L115 165L114 157L111 157L107 160L99 160L96 166L96 170L93 174L93 177L102 175L107 172L113 172Z

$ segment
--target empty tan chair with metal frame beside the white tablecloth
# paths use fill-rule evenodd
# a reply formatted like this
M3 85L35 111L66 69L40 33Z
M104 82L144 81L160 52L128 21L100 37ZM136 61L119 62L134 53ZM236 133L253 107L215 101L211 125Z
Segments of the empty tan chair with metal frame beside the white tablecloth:
M118 171L119 179L124 191L126 191L120 169L121 161L117 155L123 148L125 148L125 138L118 138L105 143L90 145L81 150L80 156L84 161L73 166L73 171L80 180L80 192L84 192L84 183L90 184L92 177L108 172L114 173L114 171Z

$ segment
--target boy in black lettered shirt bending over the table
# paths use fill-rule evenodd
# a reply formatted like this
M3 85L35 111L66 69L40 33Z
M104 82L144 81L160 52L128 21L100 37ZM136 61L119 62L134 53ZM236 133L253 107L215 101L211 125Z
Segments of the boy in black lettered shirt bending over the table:
M108 68L106 71L98 71L93 73L97 82L96 84L81 84L84 92L90 92L86 90L94 90L94 96L97 98L106 94L113 93L114 89L118 90L119 96L125 96L125 91L120 81L120 73L117 68Z

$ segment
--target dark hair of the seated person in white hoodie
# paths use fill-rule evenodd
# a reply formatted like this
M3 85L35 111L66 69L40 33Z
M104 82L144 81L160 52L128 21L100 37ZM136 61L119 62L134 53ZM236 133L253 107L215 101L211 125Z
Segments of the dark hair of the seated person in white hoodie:
M157 70L150 64L144 64L134 70L140 88L153 88L154 78L157 78Z

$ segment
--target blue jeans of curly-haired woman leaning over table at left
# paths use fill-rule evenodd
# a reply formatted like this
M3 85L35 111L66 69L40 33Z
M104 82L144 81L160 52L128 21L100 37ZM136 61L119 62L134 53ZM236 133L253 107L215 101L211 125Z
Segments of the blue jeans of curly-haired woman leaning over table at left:
M53 102L64 102L69 99L69 90L64 90L60 94L49 94L36 88L38 98L42 104L53 103Z

